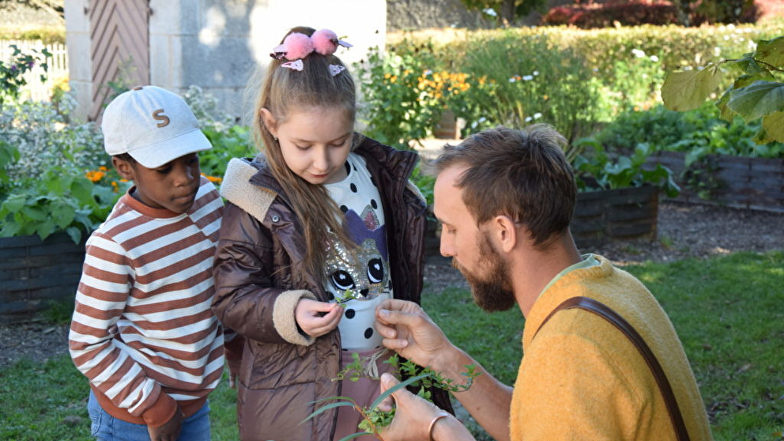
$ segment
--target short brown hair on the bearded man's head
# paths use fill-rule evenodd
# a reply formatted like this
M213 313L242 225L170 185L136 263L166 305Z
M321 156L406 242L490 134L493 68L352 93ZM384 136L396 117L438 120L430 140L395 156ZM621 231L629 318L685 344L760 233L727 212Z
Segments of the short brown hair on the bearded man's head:
M568 230L577 188L563 148L566 138L552 126L517 130L499 126L447 145L434 173L467 166L457 186L477 225L498 215L528 228L535 246Z

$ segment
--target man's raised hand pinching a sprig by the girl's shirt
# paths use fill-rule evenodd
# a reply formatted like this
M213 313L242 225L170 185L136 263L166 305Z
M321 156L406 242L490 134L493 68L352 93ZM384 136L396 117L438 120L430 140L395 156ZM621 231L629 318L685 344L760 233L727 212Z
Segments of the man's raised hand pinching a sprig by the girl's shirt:
M427 316L418 304L399 299L387 299L376 307L376 330L383 337L383 345L419 366L438 366L437 357L453 348L443 331Z

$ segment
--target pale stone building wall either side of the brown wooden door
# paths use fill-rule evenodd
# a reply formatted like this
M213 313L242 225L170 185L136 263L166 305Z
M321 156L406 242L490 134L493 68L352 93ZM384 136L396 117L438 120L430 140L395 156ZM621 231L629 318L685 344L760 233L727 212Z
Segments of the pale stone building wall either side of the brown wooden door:
M93 88L89 22L83 12L87 4L88 0L66 2L78 116L86 115ZM349 65L364 58L368 48L383 46L387 33L384 0L150 0L150 8L150 83L176 93L200 86L235 117L249 111L249 78L257 66L266 66L270 49L289 28L306 25L336 31L354 44L338 53Z

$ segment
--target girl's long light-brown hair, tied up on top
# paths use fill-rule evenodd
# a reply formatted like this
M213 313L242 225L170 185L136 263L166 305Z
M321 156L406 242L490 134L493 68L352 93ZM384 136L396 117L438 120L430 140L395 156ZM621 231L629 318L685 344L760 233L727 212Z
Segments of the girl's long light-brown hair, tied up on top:
M310 36L315 29L293 27L284 38L293 32ZM305 265L310 274L323 279L326 244L330 240L329 231L334 232L349 248L353 245L353 241L339 221L343 218L343 213L322 185L310 184L286 166L278 140L264 124L262 109L266 108L270 111L280 124L292 111L342 108L353 124L357 113L357 97L354 79L351 78L348 70L334 76L329 71L330 64L345 67L337 56L321 55L314 51L302 61L302 71L281 68L285 60L270 61L257 91L252 133L256 146L267 158L272 176L281 184L294 213L302 224L307 244ZM358 136L352 140L352 150L358 140Z

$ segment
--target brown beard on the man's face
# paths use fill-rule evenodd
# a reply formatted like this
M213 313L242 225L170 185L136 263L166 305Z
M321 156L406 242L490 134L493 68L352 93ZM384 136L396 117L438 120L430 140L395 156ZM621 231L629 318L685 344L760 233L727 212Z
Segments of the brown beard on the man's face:
M452 266L457 268L468 281L471 293L474 295L474 302L479 308L487 312L506 311L512 308L516 299L512 289L509 262L503 260L485 234L481 234L477 247L479 249L477 272L485 276L469 272L454 257L452 257Z

